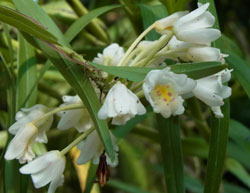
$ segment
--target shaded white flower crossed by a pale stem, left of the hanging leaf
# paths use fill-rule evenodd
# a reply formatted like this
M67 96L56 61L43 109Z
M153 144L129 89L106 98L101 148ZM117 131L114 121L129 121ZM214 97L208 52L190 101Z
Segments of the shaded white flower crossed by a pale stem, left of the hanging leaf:
M63 96L63 104L60 107L71 104L82 104L79 96ZM66 130L69 128L76 128L79 132L84 132L90 129L93 125L91 118L86 109L73 109L67 111L61 111L58 113L61 117L58 122L57 128L60 130Z

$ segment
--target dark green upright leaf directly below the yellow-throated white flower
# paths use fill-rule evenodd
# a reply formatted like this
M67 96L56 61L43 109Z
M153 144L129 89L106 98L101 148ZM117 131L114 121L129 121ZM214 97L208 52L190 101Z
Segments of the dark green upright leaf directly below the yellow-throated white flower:
M183 158L181 148L179 117L163 118L157 115L156 128L159 131L168 192L184 193Z

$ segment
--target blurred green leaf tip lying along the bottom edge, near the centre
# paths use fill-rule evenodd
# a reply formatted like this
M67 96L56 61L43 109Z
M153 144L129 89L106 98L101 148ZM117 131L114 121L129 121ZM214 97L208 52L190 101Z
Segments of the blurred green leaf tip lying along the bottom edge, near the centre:
M134 186L134 185L131 185L128 183L124 183L124 182L119 181L119 180L114 180L114 179L110 180L107 185L109 185L113 188L116 188L118 190L128 192L128 193L150 193L148 191L140 189L137 186Z

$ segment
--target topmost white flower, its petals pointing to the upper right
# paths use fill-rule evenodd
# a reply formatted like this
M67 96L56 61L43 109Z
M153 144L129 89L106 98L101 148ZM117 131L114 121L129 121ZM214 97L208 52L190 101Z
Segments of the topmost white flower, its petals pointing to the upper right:
M207 11L209 3L201 5L196 10L178 19L173 27L175 36L185 42L208 45L221 36L214 25L214 16Z

